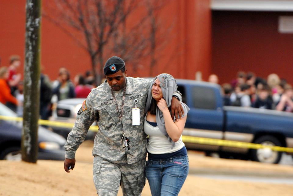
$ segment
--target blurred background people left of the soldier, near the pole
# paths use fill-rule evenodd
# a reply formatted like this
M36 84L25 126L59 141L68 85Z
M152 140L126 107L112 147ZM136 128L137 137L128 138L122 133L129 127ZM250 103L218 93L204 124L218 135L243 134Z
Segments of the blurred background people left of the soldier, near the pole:
M24 83L18 72L20 56L12 55L9 62L9 66L0 67L0 102L18 116L23 116ZM61 67L57 79L51 82L41 68L40 78L40 118L45 120L51 116L52 103L67 98L86 98L91 89L96 87L91 70L84 75L78 74L71 80L69 71Z

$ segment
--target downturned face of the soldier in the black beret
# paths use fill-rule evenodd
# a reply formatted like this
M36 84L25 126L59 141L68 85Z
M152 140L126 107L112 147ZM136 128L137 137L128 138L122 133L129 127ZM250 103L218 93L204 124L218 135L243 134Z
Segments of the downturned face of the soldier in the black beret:
M114 91L119 91L120 89L124 88L126 83L126 71L127 69L125 69L125 72L122 73L122 71L119 70L114 74L106 75L107 82Z

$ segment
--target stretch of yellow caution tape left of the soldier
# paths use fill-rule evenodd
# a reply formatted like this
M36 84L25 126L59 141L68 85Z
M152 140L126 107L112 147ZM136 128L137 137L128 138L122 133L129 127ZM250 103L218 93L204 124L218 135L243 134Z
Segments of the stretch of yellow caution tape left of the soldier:
M22 117L11 117L11 116L0 116L0 120L8 120L8 121L22 121ZM65 123L60 121L50 121L50 120L41 120L38 121L39 125L46 125L46 126L52 126L52 127L65 127L65 128L72 128L74 126L74 123ZM91 131L98 131L98 126L91 126L89 127L89 130Z

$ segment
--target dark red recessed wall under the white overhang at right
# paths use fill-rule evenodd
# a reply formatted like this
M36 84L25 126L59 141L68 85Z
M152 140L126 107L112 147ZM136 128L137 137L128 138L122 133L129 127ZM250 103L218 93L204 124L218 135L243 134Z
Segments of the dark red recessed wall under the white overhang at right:
M212 13L212 72L220 83L230 82L238 71L270 73L293 83L293 34L278 32L278 17L286 12Z

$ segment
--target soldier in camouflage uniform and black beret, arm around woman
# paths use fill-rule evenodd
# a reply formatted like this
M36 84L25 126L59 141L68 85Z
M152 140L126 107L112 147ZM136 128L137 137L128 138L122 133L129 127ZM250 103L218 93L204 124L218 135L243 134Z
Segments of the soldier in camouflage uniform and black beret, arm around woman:
M96 120L99 131L92 155L93 180L98 195L140 195L145 185L147 140L143 131L145 105L151 81L126 77L124 61L113 56L104 66L105 82L92 89L78 112L65 144L64 169L75 165L75 152ZM174 95L181 99L177 91ZM181 116L180 101L172 98L172 114ZM177 115L175 115L177 116ZM177 117L178 118L178 117Z

